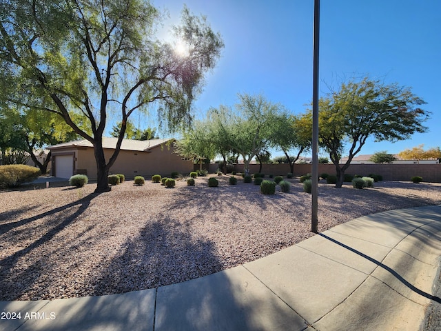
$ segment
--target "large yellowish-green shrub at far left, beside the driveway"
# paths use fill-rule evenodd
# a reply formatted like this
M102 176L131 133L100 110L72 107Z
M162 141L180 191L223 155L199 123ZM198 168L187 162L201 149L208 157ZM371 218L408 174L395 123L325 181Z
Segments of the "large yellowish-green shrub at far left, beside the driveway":
M24 164L0 165L0 188L14 188L39 178L39 168Z

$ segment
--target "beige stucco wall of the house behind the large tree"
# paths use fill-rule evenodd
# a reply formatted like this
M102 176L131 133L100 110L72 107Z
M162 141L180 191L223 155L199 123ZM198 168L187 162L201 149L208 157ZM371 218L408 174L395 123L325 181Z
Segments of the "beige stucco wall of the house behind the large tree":
M105 158L108 161L114 150L104 150ZM75 150L76 172L86 170L89 179L96 179L96 162L92 148ZM140 152L133 150L120 150L110 173L124 174L127 179L139 175L150 177L154 174L170 176L171 172L177 171L181 174L189 174L193 170L192 161L184 161L182 157L173 152L173 147L167 145L153 148L151 152Z

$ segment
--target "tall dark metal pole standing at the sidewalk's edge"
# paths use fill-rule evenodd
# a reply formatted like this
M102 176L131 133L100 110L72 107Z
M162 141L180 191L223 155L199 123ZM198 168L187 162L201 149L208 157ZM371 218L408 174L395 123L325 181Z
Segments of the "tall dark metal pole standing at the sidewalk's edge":
M311 231L318 233L318 44L320 40L320 0L314 0L314 72L312 90L312 210Z

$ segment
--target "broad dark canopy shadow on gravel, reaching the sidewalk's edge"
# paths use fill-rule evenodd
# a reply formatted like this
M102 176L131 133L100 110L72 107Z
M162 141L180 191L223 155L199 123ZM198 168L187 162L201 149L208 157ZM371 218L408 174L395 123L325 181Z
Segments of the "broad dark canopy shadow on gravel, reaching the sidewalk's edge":
M161 213L127 239L105 270L85 284L91 295L145 290L223 270L214 243L190 233L183 222Z

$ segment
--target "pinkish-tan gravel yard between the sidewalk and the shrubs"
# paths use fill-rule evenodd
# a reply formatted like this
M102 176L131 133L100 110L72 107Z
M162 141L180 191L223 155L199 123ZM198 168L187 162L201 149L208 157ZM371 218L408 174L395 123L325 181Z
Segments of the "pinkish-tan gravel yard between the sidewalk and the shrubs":
M0 191L0 300L39 300L156 288L265 257L314 235L311 195L265 196L252 183L178 181L112 191L28 185ZM441 183L319 184L319 231L383 210L441 204Z

